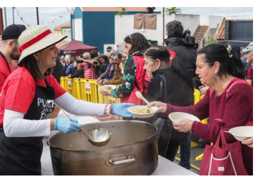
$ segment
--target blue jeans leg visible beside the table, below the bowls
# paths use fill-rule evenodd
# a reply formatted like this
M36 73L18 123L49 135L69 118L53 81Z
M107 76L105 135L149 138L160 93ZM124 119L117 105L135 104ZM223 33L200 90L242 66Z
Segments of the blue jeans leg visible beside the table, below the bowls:
M190 153L191 153L191 132L188 132L188 137L180 144L180 162L179 165L190 169Z

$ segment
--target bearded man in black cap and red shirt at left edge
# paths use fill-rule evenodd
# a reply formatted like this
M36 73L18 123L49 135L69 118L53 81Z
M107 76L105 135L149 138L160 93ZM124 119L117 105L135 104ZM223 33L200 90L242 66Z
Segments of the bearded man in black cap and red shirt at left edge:
M18 38L25 29L23 24L12 24L3 31L0 46L0 92L6 78L15 70L12 60L19 60L21 56Z

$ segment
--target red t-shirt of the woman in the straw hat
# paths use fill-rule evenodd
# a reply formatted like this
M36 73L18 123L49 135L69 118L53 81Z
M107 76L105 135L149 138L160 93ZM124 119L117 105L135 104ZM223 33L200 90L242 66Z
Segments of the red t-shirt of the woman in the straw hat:
M55 99L66 92L53 75L48 76L46 80L50 86L54 87ZM37 79L37 84L46 87L44 79ZM26 114L34 100L35 92L35 80L25 67L18 67L12 72L6 79L0 94L0 126L3 126L5 109Z

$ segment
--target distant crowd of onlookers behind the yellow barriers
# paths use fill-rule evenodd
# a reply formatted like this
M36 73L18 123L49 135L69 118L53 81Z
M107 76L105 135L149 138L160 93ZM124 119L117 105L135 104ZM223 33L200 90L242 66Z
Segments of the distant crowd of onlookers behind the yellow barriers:
M79 56L66 54L60 59L56 58L53 75L57 81L61 76L67 76L68 78L95 79L99 85L118 85L122 84L125 60L124 55L115 50L108 55L98 54L96 50L84 52ZM55 76L55 73L58 75Z

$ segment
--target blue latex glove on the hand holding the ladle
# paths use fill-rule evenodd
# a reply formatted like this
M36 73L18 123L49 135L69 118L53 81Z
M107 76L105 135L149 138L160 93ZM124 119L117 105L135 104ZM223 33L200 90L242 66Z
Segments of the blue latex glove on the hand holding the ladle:
M56 117L54 129L59 130L63 133L70 133L72 131L81 131L80 127L82 126L82 124L78 123L76 118L71 118L71 120L68 117L65 117L65 118Z

